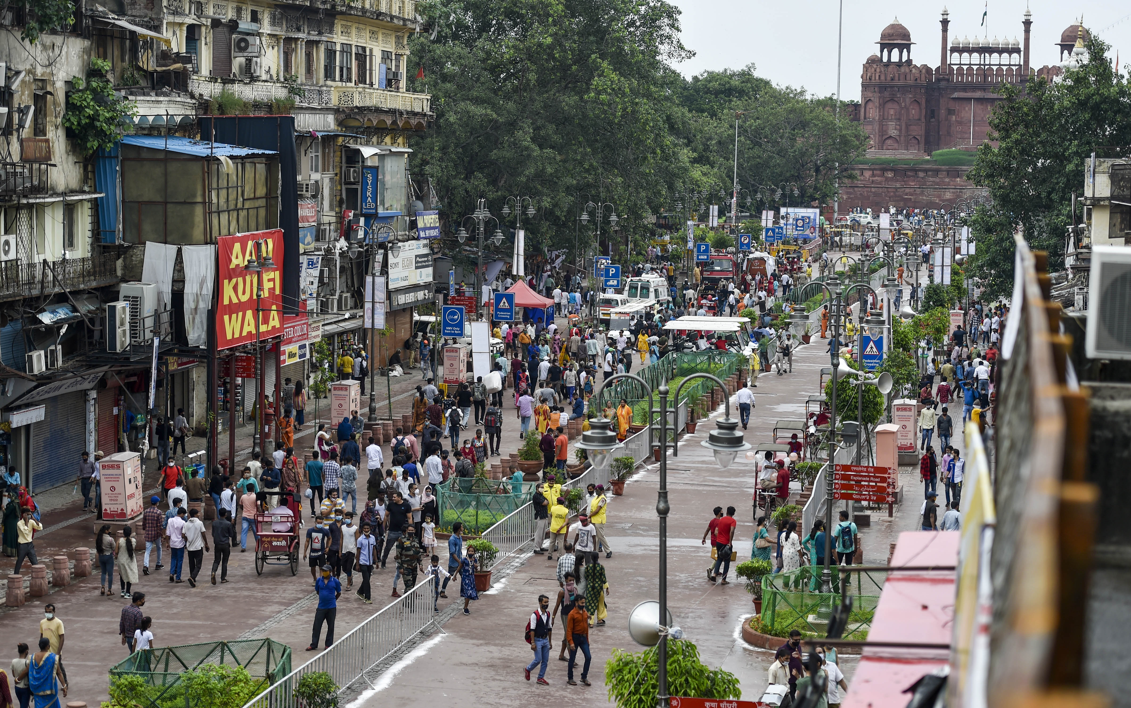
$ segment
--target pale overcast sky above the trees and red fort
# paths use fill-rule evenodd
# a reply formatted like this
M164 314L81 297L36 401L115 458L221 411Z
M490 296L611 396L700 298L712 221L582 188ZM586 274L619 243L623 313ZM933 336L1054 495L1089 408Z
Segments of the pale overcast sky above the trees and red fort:
M750 2L749 0L672 0L683 10L683 43L696 55L677 68L684 76L700 71L757 66L758 75L775 84L804 86L819 95L836 93L837 2ZM893 2L892 0L845 0L844 50L840 97L860 100L861 66L877 53L875 42L895 17L912 33L912 59L932 68L939 66L939 17L943 5L950 10L950 38L982 36L985 0ZM1131 60L1131 5L1111 0L1052 2L1031 0L1031 57L1039 68L1060 63L1054 44L1061 32L1082 12L1083 24L1120 54L1120 71ZM988 35L1015 36L1024 41L1021 19L1025 0L990 0Z

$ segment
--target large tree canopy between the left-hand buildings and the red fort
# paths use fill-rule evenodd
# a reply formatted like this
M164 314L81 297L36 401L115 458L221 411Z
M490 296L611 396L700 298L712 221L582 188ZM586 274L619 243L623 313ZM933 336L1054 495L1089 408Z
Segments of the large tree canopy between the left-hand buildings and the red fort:
M827 198L834 165L864 149L858 124L845 119L837 129L832 100L774 86L753 66L684 79L673 67L691 53L680 43L680 10L665 0L417 8L428 32L411 48L424 78L409 87L432 94L435 124L413 145L413 176L431 180L448 235L480 198L502 219L508 197L528 196L537 215L524 217L527 253L575 242L584 253L595 224L579 223L581 209L608 202L620 219L614 247L631 239L639 253L675 192L709 189L719 202L723 189L729 199L735 111L749 111L740 182L795 182L792 205ZM509 233L513 217L502 221ZM606 221L603 250L610 232Z

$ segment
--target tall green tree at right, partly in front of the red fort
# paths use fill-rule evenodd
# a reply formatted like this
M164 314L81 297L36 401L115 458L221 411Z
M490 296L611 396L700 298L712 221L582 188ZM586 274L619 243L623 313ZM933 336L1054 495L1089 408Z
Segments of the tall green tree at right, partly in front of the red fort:
M967 179L988 190L993 206L970 225L977 253L972 275L988 297L1008 295L1013 282L1013 238L1048 251L1050 270L1063 266L1071 195L1083 188L1085 162L1102 146L1131 144L1131 88L1095 33L1088 61L1063 79L1002 84L1003 101L990 116L990 140L978 148Z

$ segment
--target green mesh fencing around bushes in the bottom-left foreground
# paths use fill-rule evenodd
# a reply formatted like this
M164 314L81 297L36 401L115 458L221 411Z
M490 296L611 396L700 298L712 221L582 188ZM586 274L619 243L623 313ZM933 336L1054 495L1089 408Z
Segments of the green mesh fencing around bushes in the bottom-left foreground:
M120 683L129 701L141 708L207 708L215 697L202 682L190 684L195 674L217 666L247 670L254 697L291 673L291 647L270 639L239 639L141 649L110 670L111 692ZM227 675L223 670L215 674L222 681Z

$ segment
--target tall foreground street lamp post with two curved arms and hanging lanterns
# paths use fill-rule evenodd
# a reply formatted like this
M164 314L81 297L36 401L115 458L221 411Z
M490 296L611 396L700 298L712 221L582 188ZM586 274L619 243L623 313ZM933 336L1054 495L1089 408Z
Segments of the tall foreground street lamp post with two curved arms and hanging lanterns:
M640 377L632 373L618 373L608 379L602 381L597 385L596 390L593 392L593 400L601 399L601 391L610 383L616 381L618 379L630 379L636 381L648 391L648 400L651 400L651 387L645 382ZM680 391L683 387L688 385L689 381L693 379L709 379L714 381L720 388L725 386L714 374L706 372L693 373L688 378L683 379L680 385L675 388L675 396L672 399L675 402L675 411L679 411ZM667 388L667 383L661 383L656 390L659 394L659 435L661 435L661 452L659 452L659 491L656 495L656 515L659 517L659 621L667 621L667 515L671 511L671 504L667 501L667 402L668 395L671 394ZM718 463L719 467L727 468L737 457L739 452L750 449L750 443L742 439L742 433L739 432L739 421L731 418L731 399L729 396L724 396L725 417L723 417L718 423L716 423L715 430L711 431L707 440L700 442L700 444L715 454L715 461ZM648 417L648 429L651 430L651 412L649 411ZM614 450L623 447L623 443L616 441L616 434L613 433L611 429L612 422L606 418L597 418L592 422L590 428L587 432L581 434L581 442L578 444L579 448L587 451L589 461L593 464L594 469L601 472L608 467L612 461L612 454ZM657 671L656 679L659 684L659 691L656 697L657 708L668 708L667 694L667 627L662 627L659 631L659 644L657 646Z

